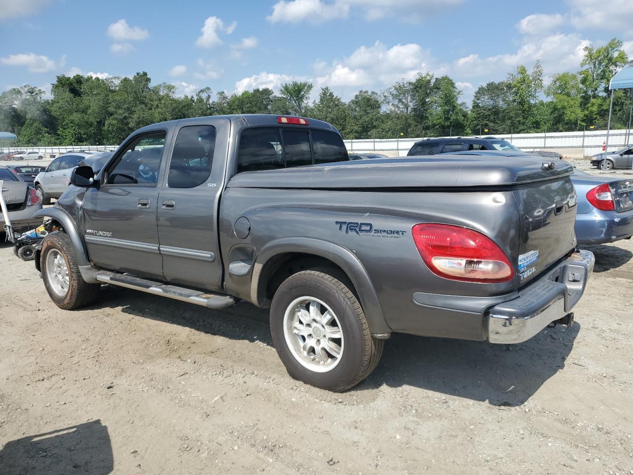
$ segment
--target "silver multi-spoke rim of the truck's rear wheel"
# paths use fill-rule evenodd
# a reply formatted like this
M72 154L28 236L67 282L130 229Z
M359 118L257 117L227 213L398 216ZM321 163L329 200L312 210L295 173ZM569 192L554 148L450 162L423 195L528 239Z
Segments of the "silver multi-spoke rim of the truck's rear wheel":
M292 356L314 372L332 371L344 351L341 322L318 298L296 298L285 310L284 337Z

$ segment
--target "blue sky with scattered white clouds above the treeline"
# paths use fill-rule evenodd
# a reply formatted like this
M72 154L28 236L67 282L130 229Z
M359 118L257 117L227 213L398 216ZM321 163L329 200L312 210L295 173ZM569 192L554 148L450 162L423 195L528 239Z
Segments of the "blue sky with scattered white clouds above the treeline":
M468 101L518 64L577 70L613 36L633 58L632 25L632 0L0 0L0 90L146 71L179 94L306 79L349 99L432 72Z

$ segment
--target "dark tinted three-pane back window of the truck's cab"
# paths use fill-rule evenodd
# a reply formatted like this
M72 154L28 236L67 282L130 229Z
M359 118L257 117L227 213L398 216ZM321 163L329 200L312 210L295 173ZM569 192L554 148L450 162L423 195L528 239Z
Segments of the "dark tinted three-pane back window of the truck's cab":
M237 173L349 160L341 136L334 131L250 127L242 130L239 139Z

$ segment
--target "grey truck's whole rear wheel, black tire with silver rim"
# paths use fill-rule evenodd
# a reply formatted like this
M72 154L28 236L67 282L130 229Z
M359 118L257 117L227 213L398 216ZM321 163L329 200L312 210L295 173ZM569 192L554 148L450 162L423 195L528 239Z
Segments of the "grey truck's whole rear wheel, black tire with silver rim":
M384 345L370 334L348 286L318 270L282 282L270 307L270 330L288 374L329 391L348 390L369 376Z

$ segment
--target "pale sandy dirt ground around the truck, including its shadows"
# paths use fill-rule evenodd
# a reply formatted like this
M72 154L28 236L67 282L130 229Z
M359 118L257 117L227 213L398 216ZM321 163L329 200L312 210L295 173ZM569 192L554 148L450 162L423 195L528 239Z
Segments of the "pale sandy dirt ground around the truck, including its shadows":
M633 474L633 241L588 248L572 329L394 335L339 395L287 376L266 311L104 287L66 312L0 245L0 473Z

